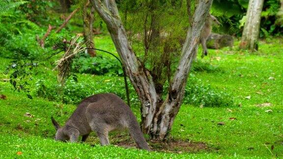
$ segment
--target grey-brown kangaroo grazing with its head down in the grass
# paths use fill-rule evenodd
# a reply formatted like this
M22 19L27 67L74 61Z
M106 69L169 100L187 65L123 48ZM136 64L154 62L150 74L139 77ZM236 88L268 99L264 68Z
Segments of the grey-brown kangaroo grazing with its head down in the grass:
M113 93L96 94L84 99L63 127L53 117L51 120L57 131L55 140L76 142L82 135L82 141L85 141L94 131L104 146L109 144L108 132L129 129L138 147L150 151L132 110Z

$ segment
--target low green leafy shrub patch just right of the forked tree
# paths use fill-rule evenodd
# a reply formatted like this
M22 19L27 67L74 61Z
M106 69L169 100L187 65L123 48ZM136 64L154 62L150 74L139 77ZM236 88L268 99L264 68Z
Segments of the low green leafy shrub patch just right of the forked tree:
M217 91L211 88L210 85L205 85L195 75L190 74L187 86L185 88L184 104L194 106L232 106L234 105L233 98L222 91Z

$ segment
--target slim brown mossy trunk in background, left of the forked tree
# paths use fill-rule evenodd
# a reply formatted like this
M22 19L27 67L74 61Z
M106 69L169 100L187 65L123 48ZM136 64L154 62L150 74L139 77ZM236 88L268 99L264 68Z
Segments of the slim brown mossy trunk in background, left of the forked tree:
M94 42L93 42L93 21L94 21L94 8L91 6L90 12L88 13L87 8L88 8L89 1L85 4L83 8L83 20L84 20L84 39L85 39L85 44L87 48L94 48ZM96 52L93 49L87 49L87 53L91 56L94 57L96 56Z

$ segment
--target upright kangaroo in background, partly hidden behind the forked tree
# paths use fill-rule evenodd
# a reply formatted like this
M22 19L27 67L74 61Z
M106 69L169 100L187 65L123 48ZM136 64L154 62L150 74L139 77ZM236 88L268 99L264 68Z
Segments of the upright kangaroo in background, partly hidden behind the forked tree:
M200 36L200 43L202 45L202 54L201 54L201 58L204 57L204 55L207 55L207 47L206 47L206 40L208 38L208 36L211 34L211 29L212 29L212 25L213 22L216 23L217 25L221 25L221 23L211 14L208 14L207 19L205 21L203 30L201 32L201 36Z

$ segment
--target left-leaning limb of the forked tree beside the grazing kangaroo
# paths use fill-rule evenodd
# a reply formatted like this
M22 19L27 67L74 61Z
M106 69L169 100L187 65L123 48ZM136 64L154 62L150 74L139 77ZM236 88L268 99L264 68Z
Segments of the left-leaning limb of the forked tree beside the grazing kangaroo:
M145 133L149 133L149 127L152 123L160 97L155 91L151 75L143 68L129 44L125 28L118 15L115 1L106 1L106 4L109 7L106 7L105 3L101 0L90 0L98 14L107 24L117 53L119 54L121 61L125 66L127 75L139 96L142 103L142 130Z

